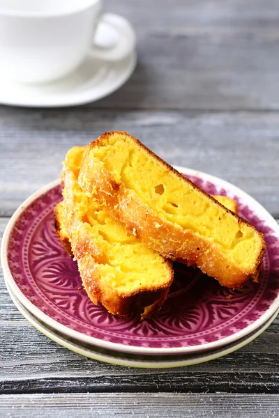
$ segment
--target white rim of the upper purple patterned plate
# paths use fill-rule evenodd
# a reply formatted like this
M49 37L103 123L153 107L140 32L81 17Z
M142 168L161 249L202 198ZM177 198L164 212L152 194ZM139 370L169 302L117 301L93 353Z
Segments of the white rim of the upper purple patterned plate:
M279 235L279 225L277 224L276 220L269 214L269 212L259 203L257 202L252 196L247 194L246 192L243 192L243 190L239 189L239 187L236 187L232 185L232 183L227 182L226 180L220 179L216 176L212 176L211 174L204 173L202 171L197 171L194 169L188 169L186 167L181 166L173 166L175 169L179 169L180 172L184 174L189 174L190 176L197 176L199 178L207 179L211 182L215 183L217 182L218 185L223 186L224 188L228 187L230 190L236 192L236 195L243 196L246 199L252 199L253 205L257 206L259 210L263 210L265 213L265 216L269 218L269 222L273 224L273 229L276 231ZM123 343L114 343L111 341L105 341L104 339L99 339L93 336L89 336L86 334L82 334L82 332L77 332L73 330L72 328L63 325L59 323L57 320L54 320L50 318L50 316L47 316L43 311L40 311L36 305L34 305L32 302L29 301L29 299L20 291L20 288L15 283L15 280L13 279L13 274L10 272L10 268L8 265L8 241L10 237L10 233L13 229L13 226L15 225L15 222L17 221L17 218L22 214L25 208L29 206L33 201L38 199L39 196L42 196L43 194L47 193L50 189L53 189L57 185L60 184L60 179L53 180L51 183L48 183L47 185L41 187L36 192L31 194L20 206L15 210L15 213L10 218L6 229L3 233L3 238L1 242L1 262L2 262L2 268L3 268L3 274L5 279L7 279L8 284L10 288L12 289L13 293L15 293L15 296L22 302L24 307L26 307L31 314L36 316L38 319L42 320L47 325L50 325L55 330L61 332L62 334L66 334L73 339L77 339L80 341L83 341L84 343L93 344L94 346L98 346L101 348L106 348L108 350L115 350L119 352L124 353L137 353L137 354L148 354L148 355L177 355L177 354L188 354L188 353L197 353L200 351L205 350L211 350L216 347L225 346L229 343L233 343L234 341L237 341L244 336L250 334L254 330L256 330L260 325L266 322L268 318L271 317L271 315L279 309L279 291L278 295L273 302L269 305L269 308L266 309L265 313L257 318L252 324L248 325L248 327L243 328L242 330L235 332L234 334L231 334L230 336L226 336L223 339L217 340L217 341L211 341L209 343L204 343L199 346L188 346L188 347L175 347L175 348L149 348L149 347L139 347L139 346L128 346Z

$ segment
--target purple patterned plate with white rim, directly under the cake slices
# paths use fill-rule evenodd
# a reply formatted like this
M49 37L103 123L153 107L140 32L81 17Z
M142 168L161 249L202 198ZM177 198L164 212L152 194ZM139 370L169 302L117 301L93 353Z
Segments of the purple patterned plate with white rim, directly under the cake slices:
M177 168L177 167L176 167ZM3 235L6 281L24 307L55 330L94 346L145 355L212 350L237 341L279 307L279 226L248 194L204 173L178 168L210 194L236 199L239 213L264 233L267 251L260 284L232 291L177 264L163 309L152 320L119 318L95 306L82 289L77 265L56 238L52 210L61 200L59 181L33 194L15 212Z

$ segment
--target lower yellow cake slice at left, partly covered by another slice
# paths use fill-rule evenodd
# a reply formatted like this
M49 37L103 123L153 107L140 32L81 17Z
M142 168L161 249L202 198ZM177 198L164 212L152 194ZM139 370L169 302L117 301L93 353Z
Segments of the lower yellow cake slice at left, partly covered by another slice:
M54 210L56 231L67 251L73 252L94 304L101 302L119 316L139 313L142 319L148 318L167 297L172 263L82 192L77 175L85 149L72 148L63 163L64 200Z

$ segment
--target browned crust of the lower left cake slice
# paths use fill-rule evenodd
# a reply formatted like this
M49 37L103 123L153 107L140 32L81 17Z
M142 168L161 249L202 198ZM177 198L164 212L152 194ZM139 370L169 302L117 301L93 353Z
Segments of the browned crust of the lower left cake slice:
M66 251L75 256L82 278L82 284L94 304L101 302L103 306L114 315L129 316L138 314L141 319L149 318L163 306L173 280L172 263L167 260L164 263L166 277L160 286L149 284L140 286L132 293L119 293L117 289L102 284L102 265L106 262L106 254L103 249L94 242L90 225L82 221L82 213L77 210L78 199L75 187L79 187L73 171L68 167L67 159L61 178L64 200L54 209L54 225ZM84 195L85 199L88 199ZM85 215L85 214L83 214ZM68 236L67 236L68 235ZM144 245L144 244L142 244ZM156 254L158 257L158 254Z

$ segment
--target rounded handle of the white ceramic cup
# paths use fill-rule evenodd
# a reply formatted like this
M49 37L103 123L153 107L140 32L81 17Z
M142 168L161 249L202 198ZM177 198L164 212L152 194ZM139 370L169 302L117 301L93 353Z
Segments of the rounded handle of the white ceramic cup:
M100 33L98 36L99 29ZM114 34L115 32L117 33L118 40L114 42L114 45L102 45L104 43L103 38L107 38L106 32L112 32L111 29L114 31ZM103 13L103 15L100 15L96 35L90 50L90 54L94 58L105 61L120 61L135 49L135 31L128 20L119 15L114 15L113 13ZM100 38L100 42L96 43L98 38Z

